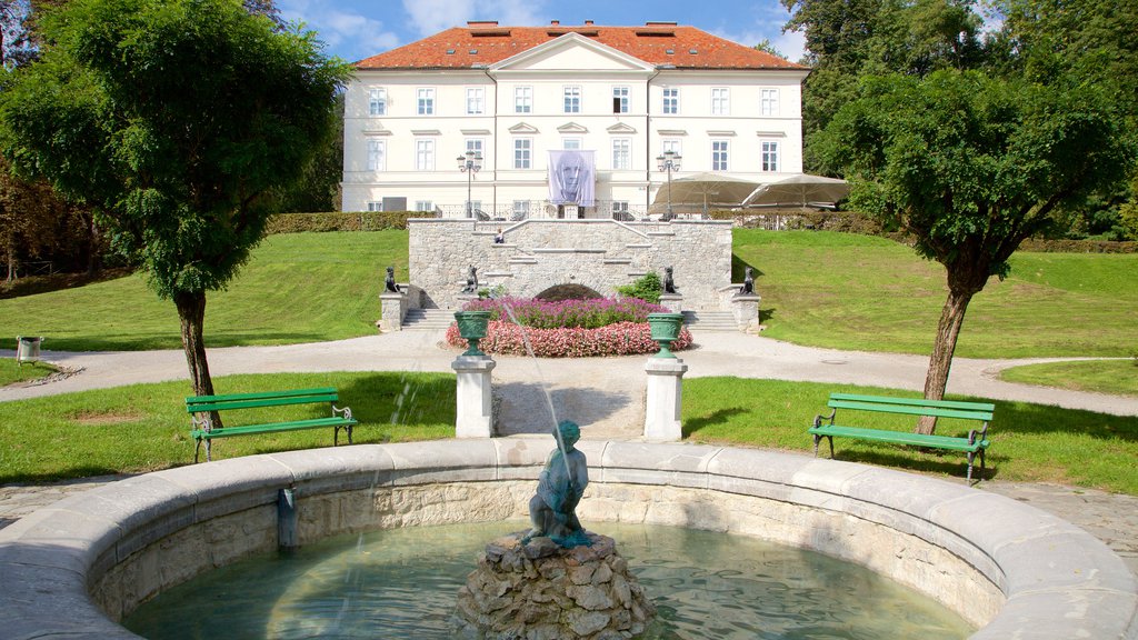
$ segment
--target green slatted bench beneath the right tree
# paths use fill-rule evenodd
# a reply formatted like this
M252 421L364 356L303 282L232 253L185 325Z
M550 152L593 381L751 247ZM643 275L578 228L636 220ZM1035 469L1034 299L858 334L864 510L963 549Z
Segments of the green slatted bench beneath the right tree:
M852 437L873 442L889 442L932 449L963 451L968 454L968 475L966 482L972 483L972 462L980 454L980 469L984 469L984 450L988 449L988 422L992 419L995 404L986 402L958 402L950 400L923 400L909 397L885 397L880 395L856 395L851 393L832 393L826 407L832 409L830 416L817 416L814 426L808 432L814 435L814 454L818 454L818 442L830 441L830 457L834 457L834 437ZM899 413L908 416L935 416L937 418L959 418L976 420L983 426L968 432L967 437L947 435L924 435L909 432L888 429L867 429L864 427L843 427L834 424L838 410L871 411L875 413ZM823 424L828 420L828 424Z

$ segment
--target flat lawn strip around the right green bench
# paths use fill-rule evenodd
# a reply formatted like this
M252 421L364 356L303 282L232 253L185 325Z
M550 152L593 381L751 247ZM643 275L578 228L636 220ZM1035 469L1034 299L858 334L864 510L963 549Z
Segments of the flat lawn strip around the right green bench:
M806 429L815 415L828 413L826 400L831 392L920 396L853 385L690 378L684 380L684 435L693 442L813 451L813 438ZM1050 482L1138 495L1138 418L1024 402L995 402L995 418L988 430L992 445L988 450L986 479ZM905 417L844 415L847 418L841 424L847 426L909 430L914 425L913 419ZM966 435L971 425L941 420L937 433ZM825 443L820 450L822 457L828 456ZM966 470L963 453L926 453L842 438L834 440L834 450L839 460L896 467L960 482Z

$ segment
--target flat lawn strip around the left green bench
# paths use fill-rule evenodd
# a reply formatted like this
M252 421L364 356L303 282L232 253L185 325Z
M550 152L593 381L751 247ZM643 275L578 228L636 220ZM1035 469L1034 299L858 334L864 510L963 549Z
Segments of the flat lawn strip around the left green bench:
M358 444L454 437L454 376L352 372L225 376L217 393L335 386ZM0 484L143 473L193 461L184 380L0 403ZM228 426L320 417L319 405L226 412ZM221 438L214 457L331 446L332 429ZM203 459L205 453L203 453Z

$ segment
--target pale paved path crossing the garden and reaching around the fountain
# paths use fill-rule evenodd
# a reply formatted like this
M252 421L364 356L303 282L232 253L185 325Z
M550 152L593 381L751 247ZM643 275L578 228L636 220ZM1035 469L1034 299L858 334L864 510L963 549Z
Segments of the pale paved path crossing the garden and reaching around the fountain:
M687 377L741 376L795 381L850 383L920 391L927 358L803 347L760 336L698 331L696 348L683 352ZM452 371L456 352L440 336L401 331L336 340L265 347L212 348L214 376L302 371ZM13 352L0 352L11 358ZM0 388L0 402L135 383L187 379L181 351L67 353L44 352L46 360L79 370L42 385ZM549 403L559 416L574 416L587 438L640 436L644 424L643 356L533 360L496 356L495 386L503 397L506 434L549 429ZM1017 400L1120 416L1138 416L1138 397L1015 385L997 379L1001 369L1053 359L973 360L957 358L948 391L996 400ZM546 397L549 394L549 399ZM69 492L109 478L41 486L0 486L0 527ZM1138 497L1045 484L983 482L1001 493L1052 511L1082 526L1114 549L1138 573Z

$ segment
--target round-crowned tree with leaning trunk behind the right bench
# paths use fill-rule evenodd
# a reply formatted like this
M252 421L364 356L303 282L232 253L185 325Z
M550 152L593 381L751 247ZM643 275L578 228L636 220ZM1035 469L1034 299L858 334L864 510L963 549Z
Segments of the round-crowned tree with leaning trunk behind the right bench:
M853 206L899 223L945 265L926 399L943 397L968 303L1008 272L1020 243L1132 165L1135 140L1106 93L979 72L866 77L819 137Z

